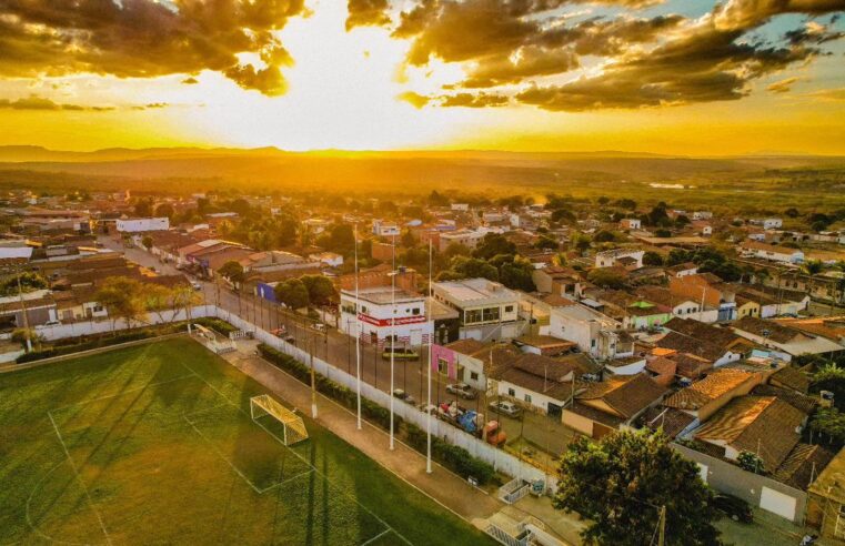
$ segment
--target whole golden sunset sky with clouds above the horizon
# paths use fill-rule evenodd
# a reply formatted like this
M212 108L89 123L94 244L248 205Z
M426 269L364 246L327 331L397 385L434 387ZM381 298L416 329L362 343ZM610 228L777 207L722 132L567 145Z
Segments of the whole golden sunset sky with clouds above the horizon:
M845 0L4 0L0 145L845 154Z

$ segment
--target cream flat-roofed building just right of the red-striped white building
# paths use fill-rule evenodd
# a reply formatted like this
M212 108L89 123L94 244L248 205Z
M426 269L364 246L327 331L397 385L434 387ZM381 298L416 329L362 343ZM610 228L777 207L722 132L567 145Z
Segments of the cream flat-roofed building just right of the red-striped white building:
M437 282L434 299L460 313L459 338L511 340L522 335L520 297L503 284L486 279Z

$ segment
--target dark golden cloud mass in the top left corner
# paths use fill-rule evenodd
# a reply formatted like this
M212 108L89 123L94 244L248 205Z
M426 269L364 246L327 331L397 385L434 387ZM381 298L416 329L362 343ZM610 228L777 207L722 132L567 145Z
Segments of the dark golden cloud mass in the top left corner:
M202 70L278 94L290 55L274 31L304 0L3 0L0 75L78 72L152 78ZM239 62L255 53L265 68Z

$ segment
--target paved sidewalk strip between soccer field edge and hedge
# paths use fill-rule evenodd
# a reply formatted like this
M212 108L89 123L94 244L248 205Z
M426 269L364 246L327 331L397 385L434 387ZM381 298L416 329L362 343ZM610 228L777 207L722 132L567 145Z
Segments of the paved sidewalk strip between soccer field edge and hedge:
M223 356L281 398L308 413L311 407L311 390L255 355L256 345L253 341L239 341L238 352ZM436 463L433 472L426 474L423 455L400 442L391 451L385 431L365 421L359 431L354 413L321 394L318 396L316 421L322 426L476 527L483 529L484 520L505 506L494 496L470 486Z

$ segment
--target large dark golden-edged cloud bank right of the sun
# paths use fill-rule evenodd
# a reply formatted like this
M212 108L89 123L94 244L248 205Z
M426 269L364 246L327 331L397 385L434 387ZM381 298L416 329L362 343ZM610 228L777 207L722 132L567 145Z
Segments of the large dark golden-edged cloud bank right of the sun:
M411 67L433 59L463 67L466 77L443 88L453 94L430 97L444 107L502 105L513 97L556 111L641 108L741 99L753 80L807 62L823 53L822 43L843 37L833 18L827 26L808 21L779 44L756 37L761 26L784 13L845 9L843 0L727 0L698 19L623 14L571 22L560 8L575 3L418 0L400 14L393 36L411 41ZM574 70L582 75L566 81Z

